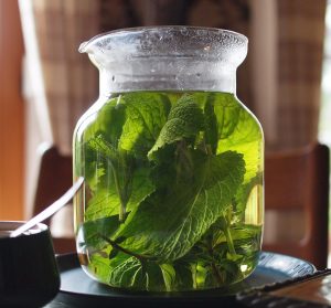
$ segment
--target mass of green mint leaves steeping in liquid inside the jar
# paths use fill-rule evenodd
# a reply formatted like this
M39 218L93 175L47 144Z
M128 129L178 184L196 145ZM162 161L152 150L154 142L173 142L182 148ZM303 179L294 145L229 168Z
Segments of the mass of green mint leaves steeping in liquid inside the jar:
M259 246L243 213L261 183L261 136L232 95L122 94L84 134L82 248L96 277L168 291L243 277Z

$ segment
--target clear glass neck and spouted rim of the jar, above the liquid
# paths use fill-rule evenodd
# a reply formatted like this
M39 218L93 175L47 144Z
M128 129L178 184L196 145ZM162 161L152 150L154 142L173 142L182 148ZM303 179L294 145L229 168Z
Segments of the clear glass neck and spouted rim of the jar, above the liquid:
M248 39L234 31L191 25L118 29L83 43L99 68L103 93L200 88L235 92L235 72Z

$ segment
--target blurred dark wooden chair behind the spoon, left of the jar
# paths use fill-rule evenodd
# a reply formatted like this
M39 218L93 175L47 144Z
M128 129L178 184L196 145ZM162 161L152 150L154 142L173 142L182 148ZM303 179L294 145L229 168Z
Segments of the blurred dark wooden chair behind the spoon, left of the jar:
M33 202L33 215L36 215L38 213L43 211L45 206L53 203L73 184L72 170L73 168L71 156L62 156L55 147L50 147L42 150L39 178ZM55 217L56 216L54 216L54 219ZM73 217L68 219L73 220ZM45 221L44 223L50 226L51 233L53 235L54 232L52 232L52 219ZM61 224L57 224L57 227L58 225ZM70 226L63 225L60 227L68 229ZM76 251L73 236L57 237L53 235L53 245L55 253L57 254Z

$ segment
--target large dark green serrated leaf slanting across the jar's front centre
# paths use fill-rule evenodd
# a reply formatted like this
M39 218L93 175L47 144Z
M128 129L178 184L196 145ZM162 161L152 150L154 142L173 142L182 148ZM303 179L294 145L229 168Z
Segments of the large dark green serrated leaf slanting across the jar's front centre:
M192 156L193 157L193 156ZM194 161L191 183L156 191L119 232L122 245L159 263L185 255L231 205L245 171L241 155L225 152Z

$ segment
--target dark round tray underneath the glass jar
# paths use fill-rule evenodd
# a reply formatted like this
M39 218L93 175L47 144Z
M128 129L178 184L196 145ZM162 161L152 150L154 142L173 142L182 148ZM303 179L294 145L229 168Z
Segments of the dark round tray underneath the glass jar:
M110 288L89 278L77 255L57 256L61 289L47 308L55 307L239 307L237 293L313 274L312 264L299 258L260 253L257 268L245 280L231 287L191 293L138 293Z

